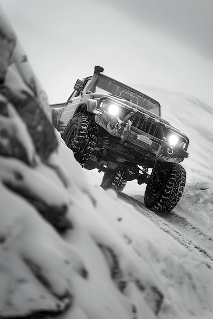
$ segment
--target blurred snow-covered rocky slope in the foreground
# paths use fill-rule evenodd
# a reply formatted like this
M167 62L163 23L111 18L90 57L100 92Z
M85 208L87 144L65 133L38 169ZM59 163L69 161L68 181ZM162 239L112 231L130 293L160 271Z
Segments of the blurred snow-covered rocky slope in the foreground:
M210 265L89 183L0 18L0 318L210 318Z

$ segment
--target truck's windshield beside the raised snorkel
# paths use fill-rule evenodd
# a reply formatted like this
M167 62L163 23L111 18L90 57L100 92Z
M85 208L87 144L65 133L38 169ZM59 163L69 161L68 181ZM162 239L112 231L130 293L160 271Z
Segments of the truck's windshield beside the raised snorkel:
M136 91L112 78L103 75L98 76L94 85L90 88L92 93L113 94L160 116L160 104L151 97Z

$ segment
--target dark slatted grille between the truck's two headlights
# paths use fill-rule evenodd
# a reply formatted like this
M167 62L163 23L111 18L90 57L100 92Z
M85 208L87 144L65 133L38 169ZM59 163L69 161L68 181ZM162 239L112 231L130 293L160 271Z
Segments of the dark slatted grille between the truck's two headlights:
M133 130L135 128L135 131L137 130L143 131L160 140L163 138L162 126L154 122L152 119L143 118L137 115L132 115L131 117L129 117L129 120L132 122Z

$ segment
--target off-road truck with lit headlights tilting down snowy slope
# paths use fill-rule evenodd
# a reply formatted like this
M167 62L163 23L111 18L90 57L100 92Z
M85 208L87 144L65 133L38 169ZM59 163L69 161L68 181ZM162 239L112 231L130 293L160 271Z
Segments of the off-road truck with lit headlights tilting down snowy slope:
M54 126L85 169L104 172L103 189L146 183L145 205L166 214L183 193L188 138L160 117L160 104L94 67L77 80L65 107L52 109Z

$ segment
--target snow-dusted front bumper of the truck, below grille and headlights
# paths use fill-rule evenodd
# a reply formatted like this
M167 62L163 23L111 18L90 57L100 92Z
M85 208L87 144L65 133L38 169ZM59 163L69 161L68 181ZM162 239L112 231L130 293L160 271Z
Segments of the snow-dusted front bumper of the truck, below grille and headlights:
M171 147L165 138L157 139L143 131L140 134L131 129L131 121L124 122L118 117L111 115L106 111L95 109L93 111L94 120L103 127L111 136L120 138L121 144L127 145L127 142L135 145L152 154L155 158L162 157L167 162L180 163L188 156L188 153L180 148ZM126 143L125 143L126 142Z

